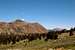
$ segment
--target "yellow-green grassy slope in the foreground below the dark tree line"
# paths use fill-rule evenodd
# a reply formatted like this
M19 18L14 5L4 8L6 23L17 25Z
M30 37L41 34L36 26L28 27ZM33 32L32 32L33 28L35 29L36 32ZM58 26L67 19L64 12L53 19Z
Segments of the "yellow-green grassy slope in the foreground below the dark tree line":
M63 50L75 50L75 36L67 37L62 40L34 40L32 42L20 41L14 45L0 45L0 50L18 49L18 50L48 50L49 48L65 48Z

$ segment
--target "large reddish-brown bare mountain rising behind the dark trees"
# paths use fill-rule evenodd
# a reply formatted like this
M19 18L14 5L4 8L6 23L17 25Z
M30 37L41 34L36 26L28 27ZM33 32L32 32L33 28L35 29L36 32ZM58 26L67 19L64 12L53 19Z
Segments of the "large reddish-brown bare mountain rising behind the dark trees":
M22 20L16 20L14 22L0 22L0 32L14 33L14 34L29 34L29 33L47 33L45 29L39 23L28 23Z

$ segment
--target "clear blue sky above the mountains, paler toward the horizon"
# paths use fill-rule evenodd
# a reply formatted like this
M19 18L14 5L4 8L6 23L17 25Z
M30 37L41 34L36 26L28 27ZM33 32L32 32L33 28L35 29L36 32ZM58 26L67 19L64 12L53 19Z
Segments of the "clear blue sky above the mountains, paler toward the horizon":
M47 29L75 26L75 0L0 0L0 21L24 19Z

